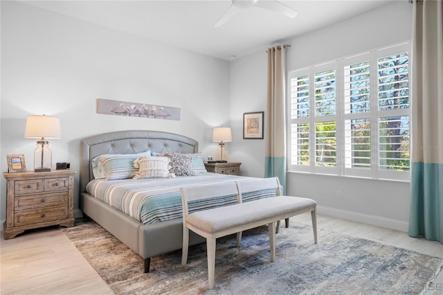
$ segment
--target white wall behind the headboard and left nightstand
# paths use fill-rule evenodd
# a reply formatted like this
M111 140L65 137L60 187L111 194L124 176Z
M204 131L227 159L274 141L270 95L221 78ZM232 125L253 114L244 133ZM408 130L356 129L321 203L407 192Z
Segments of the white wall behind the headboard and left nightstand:
M181 120L96 114L96 99L181 108ZM199 141L213 155L212 128L229 124L229 64L150 42L24 3L1 1L1 170L6 154L24 154L33 170L35 140L24 138L26 116L58 116L62 139L50 140L53 166L78 171L80 140L125 129L161 130ZM0 220L6 220L1 177ZM75 177L75 214L78 211ZM3 225L3 222L1 222Z

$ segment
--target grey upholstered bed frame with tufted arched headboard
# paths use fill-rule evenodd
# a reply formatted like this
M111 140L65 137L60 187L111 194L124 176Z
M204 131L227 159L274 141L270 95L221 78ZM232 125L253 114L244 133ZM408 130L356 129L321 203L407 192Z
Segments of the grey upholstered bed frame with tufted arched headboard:
M118 240L137 253L145 262L144 271L150 271L153 256L182 248L182 218L142 224L129 215L86 193L93 177L91 159L100 154L134 154L153 152L197 153L199 143L192 138L168 132L127 130L109 132L84 138L80 142L80 209ZM205 242L191 233L190 245Z

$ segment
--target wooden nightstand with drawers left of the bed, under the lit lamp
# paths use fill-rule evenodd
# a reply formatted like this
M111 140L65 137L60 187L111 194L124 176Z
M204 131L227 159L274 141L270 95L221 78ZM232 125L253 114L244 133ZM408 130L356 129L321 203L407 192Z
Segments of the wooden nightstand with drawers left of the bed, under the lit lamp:
M75 171L4 172L6 186L5 239L26 229L43 226L74 226L73 195Z

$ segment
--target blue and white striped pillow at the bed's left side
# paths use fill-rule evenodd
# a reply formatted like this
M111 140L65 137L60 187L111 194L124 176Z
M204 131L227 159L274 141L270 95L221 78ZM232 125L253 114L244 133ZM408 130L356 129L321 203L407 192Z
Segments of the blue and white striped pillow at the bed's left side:
M105 179L127 179L136 175L137 169L134 167L134 161L138 156L116 156L101 157L100 162L105 170Z

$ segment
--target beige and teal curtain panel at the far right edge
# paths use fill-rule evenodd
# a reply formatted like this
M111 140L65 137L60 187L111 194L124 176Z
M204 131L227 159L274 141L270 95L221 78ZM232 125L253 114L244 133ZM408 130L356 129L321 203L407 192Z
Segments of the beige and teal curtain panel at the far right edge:
M413 6L408 233L443 243L443 5Z

